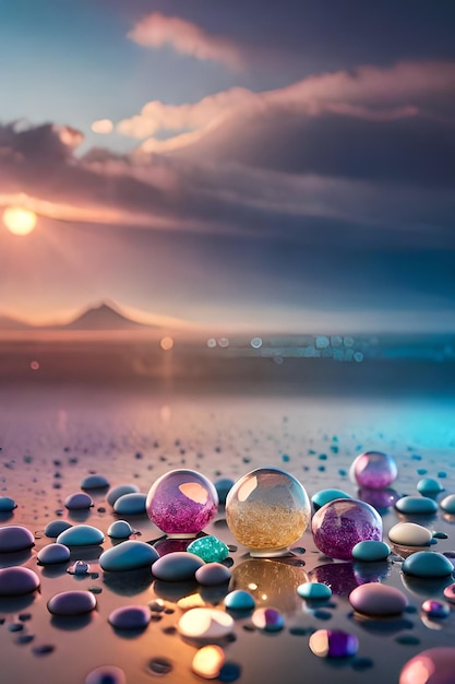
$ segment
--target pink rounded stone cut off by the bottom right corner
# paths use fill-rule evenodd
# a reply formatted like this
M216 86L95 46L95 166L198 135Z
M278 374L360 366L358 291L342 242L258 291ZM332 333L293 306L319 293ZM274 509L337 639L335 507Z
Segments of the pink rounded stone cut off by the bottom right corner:
M455 648L429 648L408 660L399 684L453 684L454 672Z

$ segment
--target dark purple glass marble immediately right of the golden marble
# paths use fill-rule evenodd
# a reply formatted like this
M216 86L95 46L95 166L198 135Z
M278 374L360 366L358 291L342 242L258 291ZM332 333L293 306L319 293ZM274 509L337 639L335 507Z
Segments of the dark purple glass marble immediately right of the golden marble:
M337 498L313 516L313 540L330 558L349 561L358 542L382 540L382 519L369 504L358 499Z

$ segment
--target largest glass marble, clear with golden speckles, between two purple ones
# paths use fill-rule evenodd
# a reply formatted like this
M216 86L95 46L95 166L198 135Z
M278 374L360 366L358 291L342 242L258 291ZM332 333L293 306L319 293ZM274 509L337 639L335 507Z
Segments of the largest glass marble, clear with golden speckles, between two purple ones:
M258 557L288 553L307 529L310 499L300 482L278 468L258 468L240 477L226 498L227 524Z

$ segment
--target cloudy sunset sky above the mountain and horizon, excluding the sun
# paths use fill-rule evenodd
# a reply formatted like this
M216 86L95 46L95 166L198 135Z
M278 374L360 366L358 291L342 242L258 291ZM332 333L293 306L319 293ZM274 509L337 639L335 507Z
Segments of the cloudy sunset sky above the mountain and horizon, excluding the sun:
M455 4L0 0L0 314L455 331Z

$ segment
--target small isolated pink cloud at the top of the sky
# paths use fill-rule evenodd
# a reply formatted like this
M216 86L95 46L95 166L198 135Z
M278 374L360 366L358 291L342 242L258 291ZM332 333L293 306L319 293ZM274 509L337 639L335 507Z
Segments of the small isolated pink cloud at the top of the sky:
M207 33L196 24L178 16L153 12L144 16L128 37L145 47L172 47L180 55L205 61L216 61L239 69L241 56L237 46L223 36Z

